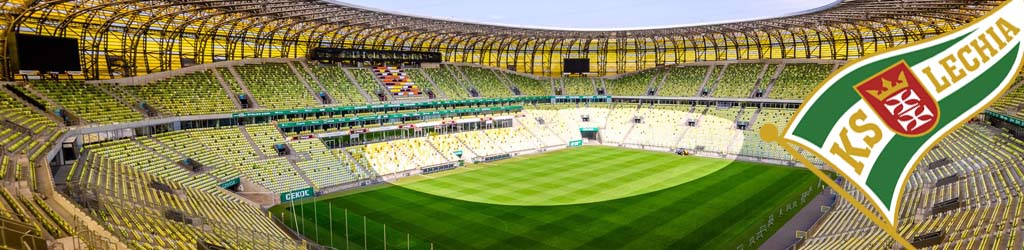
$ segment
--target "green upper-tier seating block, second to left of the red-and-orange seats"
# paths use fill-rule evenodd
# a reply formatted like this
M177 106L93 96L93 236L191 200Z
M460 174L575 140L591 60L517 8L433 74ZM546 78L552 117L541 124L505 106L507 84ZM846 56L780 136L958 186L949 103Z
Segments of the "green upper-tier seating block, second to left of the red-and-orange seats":
M321 106L288 65L243 65L234 69L262 108L283 110Z

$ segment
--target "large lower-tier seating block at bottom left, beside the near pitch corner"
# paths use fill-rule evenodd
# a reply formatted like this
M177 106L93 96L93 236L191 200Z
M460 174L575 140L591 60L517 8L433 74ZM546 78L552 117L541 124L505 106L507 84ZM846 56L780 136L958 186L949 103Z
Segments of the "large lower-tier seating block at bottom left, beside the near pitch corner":
M238 199L225 199L165 180L99 154L87 154L75 180L74 198L101 225L132 248L299 249L265 214Z

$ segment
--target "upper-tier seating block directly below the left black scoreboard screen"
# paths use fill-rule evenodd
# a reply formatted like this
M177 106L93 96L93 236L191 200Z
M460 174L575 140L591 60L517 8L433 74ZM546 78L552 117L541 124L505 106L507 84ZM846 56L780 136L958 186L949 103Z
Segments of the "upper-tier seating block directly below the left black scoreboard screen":
M32 87L87 122L120 123L142 120L142 114L119 102L94 84L33 82Z

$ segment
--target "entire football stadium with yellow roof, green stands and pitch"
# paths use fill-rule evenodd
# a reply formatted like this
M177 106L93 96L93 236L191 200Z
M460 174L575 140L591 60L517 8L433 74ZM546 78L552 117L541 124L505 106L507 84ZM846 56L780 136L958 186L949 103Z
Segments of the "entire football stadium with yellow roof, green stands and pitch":
M1006 2L596 29L328 0L8 0L0 247L905 249L828 161L761 128L846 67ZM1012 85L907 176L893 222L913 247L1024 249Z

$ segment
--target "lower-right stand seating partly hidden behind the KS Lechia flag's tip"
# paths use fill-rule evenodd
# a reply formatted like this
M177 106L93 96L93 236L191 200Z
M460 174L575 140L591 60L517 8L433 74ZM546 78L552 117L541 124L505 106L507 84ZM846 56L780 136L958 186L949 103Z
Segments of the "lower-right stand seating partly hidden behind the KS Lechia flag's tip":
M1021 158L1024 142L998 130L968 124L926 155L904 191L901 234L914 237L942 232L931 249L1018 249L1020 238ZM930 163L948 164L932 168ZM955 176L939 185L940 179ZM851 186L852 187L852 186ZM855 195L863 200L859 194ZM957 199L953 210L935 211L933 204ZM840 222L842 221L842 222ZM804 249L881 247L891 240L846 201L837 205L809 234Z

